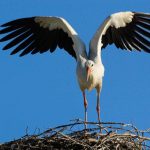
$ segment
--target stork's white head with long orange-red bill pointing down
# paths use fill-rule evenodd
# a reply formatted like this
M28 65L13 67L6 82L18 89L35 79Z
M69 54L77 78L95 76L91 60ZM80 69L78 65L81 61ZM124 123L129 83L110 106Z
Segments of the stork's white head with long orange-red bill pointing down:
M85 67L86 67L86 72L87 72L87 78L86 78L87 81L89 80L89 76L93 72L93 66L94 66L94 62L92 60L86 61Z

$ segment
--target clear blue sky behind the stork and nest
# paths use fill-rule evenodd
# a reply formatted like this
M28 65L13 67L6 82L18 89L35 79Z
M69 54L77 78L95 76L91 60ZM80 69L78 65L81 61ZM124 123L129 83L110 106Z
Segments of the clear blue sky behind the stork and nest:
M1 0L0 24L31 16L61 16L86 43L110 14L150 12L147 0ZM6 44L6 43L5 43ZM0 49L4 43L0 43ZM0 142L19 138L76 118L84 118L76 62L64 51L18 57L0 51ZM150 127L150 54L108 46L102 52L105 77L101 93L102 121ZM87 92L88 120L97 121L96 91Z

